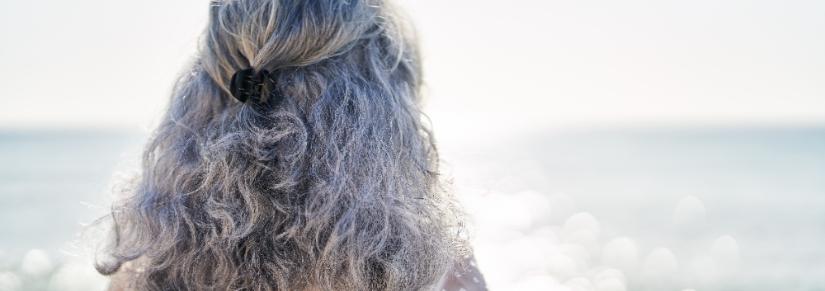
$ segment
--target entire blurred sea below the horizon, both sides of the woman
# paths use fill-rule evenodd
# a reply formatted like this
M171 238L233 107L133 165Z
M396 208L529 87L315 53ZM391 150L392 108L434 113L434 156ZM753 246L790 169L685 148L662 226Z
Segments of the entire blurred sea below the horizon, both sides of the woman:
M144 136L0 133L0 290L95 290L78 233ZM825 290L825 127L442 144L494 290Z

